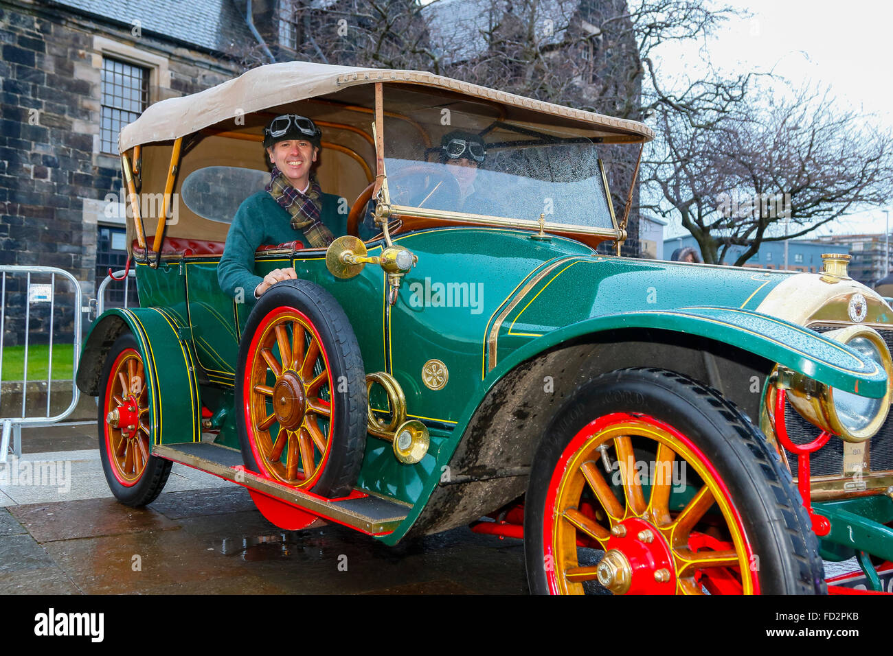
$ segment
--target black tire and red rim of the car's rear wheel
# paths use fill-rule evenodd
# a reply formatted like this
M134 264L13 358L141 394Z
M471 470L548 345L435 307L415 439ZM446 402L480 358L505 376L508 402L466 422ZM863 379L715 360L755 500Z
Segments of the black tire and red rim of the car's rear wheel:
M131 445L125 448L136 448L135 441L141 439L146 444L149 456L147 458L145 469L138 476L136 482L127 481L129 485L121 482L125 480L127 473L122 471L121 465L113 463L109 453L109 440L121 439L121 430L113 428L106 422L106 415L111 409L111 405L107 399L109 395L109 386L113 386L112 392L117 391L117 376L113 377L113 367L122 354L129 352L139 353L137 340L130 333L124 333L112 345L108 357L105 359L103 366L102 378L100 378L100 395L97 397L98 416L97 426L99 432L99 455L103 462L103 472L105 480L108 482L109 488L112 490L115 498L129 506L145 506L147 503L154 502L159 494L162 493L164 484L167 483L168 476L171 474L171 461L151 455L151 445L154 442L154 426L151 424L151 418L146 419L148 432L138 430L137 436L130 440ZM142 358L140 357L141 361ZM144 370L145 371L145 370ZM111 380L110 380L111 378ZM140 407L146 406L146 394L148 391L145 385L145 374L143 375L142 393L138 395L138 404ZM112 405L116 403L111 402ZM117 443L117 442L116 442ZM142 457L140 455L140 457ZM116 473L117 472L117 473ZM121 477L121 480L119 480Z

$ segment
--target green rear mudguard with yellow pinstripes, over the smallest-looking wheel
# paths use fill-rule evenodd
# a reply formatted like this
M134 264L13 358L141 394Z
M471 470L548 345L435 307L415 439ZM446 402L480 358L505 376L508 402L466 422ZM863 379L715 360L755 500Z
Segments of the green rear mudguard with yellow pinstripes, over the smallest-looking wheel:
M105 358L125 331L137 339L146 367L153 443L200 442L201 399L195 355L183 327L170 312L158 308L114 308L104 311L90 328L80 354L76 382L84 394L96 396Z

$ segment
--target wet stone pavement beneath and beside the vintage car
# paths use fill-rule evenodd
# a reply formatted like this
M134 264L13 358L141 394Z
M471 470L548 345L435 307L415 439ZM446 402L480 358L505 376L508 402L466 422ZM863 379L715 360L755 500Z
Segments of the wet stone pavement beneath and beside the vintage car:
M462 527L388 547L321 521L283 531L245 489L176 464L170 491L129 508L105 485L95 431L53 427L44 452L23 431L20 469L71 474L67 490L0 484L0 594L527 593L520 540Z

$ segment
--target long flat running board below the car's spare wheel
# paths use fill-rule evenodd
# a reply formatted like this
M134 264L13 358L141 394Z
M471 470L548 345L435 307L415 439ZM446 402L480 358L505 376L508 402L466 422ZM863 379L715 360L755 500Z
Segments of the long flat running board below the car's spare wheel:
M152 447L152 454L187 467L201 469L239 486L312 512L323 519L356 528L372 536L392 533L400 522L406 519L410 511L408 505L372 496L362 490L356 490L348 497L333 500L280 485L269 478L260 477L243 469L242 454L220 444L207 442L155 444Z

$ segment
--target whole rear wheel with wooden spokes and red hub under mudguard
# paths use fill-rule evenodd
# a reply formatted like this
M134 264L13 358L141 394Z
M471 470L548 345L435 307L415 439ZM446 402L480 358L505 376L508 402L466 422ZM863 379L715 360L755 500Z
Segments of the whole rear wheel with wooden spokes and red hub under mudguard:
M121 502L144 505L161 493L171 463L151 455L146 368L129 333L113 345L103 381L98 425L105 478Z

